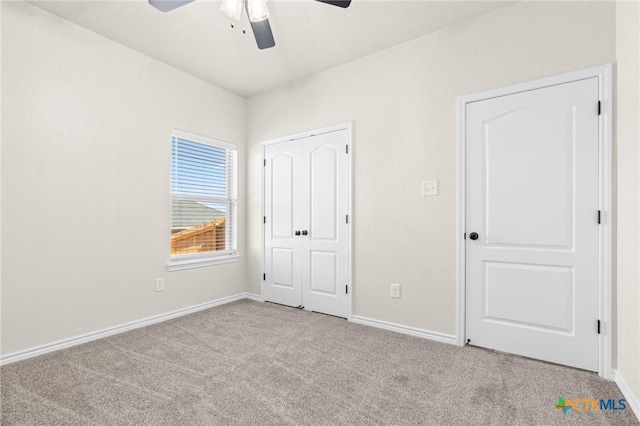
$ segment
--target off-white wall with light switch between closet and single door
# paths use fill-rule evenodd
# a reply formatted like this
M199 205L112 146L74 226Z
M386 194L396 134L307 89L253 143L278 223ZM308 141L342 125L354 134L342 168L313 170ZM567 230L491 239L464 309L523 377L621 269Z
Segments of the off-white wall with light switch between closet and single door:
M354 314L454 334L456 98L614 55L614 3L522 3L251 98L250 291L260 291L261 142L353 120ZM429 179L440 195L423 198Z

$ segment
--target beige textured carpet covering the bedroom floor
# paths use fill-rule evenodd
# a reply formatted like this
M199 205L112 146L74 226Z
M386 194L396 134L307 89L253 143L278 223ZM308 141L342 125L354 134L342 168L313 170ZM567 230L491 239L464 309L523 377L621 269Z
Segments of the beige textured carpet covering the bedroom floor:
M0 369L2 425L625 425L596 374L241 301Z

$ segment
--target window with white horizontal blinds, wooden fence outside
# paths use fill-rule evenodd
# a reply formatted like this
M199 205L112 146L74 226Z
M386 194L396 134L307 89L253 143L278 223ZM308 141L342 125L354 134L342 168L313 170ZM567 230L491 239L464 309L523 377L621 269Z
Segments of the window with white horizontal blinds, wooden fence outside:
M236 147L171 133L169 270L236 261Z

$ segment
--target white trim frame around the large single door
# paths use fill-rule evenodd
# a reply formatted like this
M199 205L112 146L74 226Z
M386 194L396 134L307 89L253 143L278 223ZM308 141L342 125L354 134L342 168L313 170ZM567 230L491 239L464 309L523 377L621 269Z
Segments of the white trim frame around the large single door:
M613 298L612 298L612 235L613 235L613 128L612 128L612 73L611 64L560 74L548 78L515 84L498 89L474 93L458 98L458 173L456 209L456 343L466 341L466 253L464 233L466 223L466 106L490 98L511 95L529 90L570 83L597 77L601 114L598 122L599 153L599 273L598 318L601 321L598 339L598 375L613 380ZM595 324L594 324L595 327Z

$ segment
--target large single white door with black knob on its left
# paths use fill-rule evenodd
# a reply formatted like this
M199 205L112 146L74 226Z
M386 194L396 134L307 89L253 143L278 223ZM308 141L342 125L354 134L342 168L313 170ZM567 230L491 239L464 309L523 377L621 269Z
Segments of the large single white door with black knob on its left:
M597 78L467 105L468 343L598 370L598 113Z

